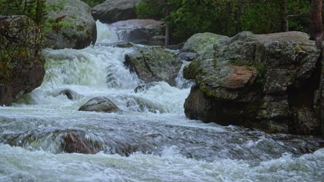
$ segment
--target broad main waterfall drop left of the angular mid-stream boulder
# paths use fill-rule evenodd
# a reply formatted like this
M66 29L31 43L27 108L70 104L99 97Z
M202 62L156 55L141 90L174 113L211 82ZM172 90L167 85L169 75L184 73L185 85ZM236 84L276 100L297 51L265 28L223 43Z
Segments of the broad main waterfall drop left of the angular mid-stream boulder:
M134 88L139 81L124 66L124 55L130 50L111 47L84 50L51 50L46 81L55 84L86 85L96 88Z

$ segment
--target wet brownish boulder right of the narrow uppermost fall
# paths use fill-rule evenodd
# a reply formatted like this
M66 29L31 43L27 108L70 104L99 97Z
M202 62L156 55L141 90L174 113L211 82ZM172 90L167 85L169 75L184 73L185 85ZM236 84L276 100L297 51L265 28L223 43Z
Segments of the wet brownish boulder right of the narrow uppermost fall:
M165 45L165 23L154 19L129 19L112 23L109 28L123 41L144 45Z

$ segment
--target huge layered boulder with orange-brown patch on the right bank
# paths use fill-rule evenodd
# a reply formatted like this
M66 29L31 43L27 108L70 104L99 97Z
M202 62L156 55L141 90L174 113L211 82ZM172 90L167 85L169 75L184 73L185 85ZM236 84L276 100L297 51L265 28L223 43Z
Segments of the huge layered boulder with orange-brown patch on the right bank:
M184 105L186 116L267 132L319 134L316 99L320 50L307 34L241 32L215 41L185 68L196 85Z

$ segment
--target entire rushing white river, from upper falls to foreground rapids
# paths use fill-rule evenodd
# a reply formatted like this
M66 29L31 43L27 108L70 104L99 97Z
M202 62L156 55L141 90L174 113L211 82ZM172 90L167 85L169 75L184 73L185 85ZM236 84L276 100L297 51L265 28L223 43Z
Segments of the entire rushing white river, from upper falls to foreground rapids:
M117 36L97 26L97 45L45 50L42 86L0 108L0 181L324 181L323 139L189 120L181 72L177 88L134 92L132 48L107 46ZM123 112L78 111L96 96ZM67 139L96 154L69 153Z

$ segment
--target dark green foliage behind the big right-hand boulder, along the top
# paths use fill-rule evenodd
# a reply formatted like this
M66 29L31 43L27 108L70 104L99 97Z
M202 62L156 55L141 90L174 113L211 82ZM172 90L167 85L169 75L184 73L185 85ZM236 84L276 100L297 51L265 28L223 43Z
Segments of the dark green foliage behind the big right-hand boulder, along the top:
M168 22L173 39L187 39L199 32L227 36L243 30L256 34L280 32L282 17L288 18L289 30L307 31L309 1L285 0L287 12L282 12L282 1L168 0L170 15L165 16L166 1L141 0L136 12L139 18Z

